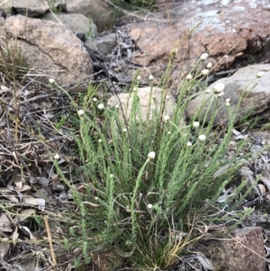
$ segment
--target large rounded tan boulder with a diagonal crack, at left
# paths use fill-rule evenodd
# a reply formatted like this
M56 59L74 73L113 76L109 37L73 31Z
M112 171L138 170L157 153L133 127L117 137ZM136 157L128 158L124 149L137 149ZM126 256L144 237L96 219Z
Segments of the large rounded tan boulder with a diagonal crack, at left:
M18 43L31 62L32 73L46 82L54 77L60 84L81 83L93 74L92 60L82 41L63 25L17 15L2 22L0 33L9 42Z

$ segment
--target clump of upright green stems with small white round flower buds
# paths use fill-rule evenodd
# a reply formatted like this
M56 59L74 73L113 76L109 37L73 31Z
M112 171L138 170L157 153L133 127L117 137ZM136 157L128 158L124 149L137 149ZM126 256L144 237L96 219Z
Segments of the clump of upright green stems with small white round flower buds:
M176 53L172 51L172 59ZM198 65L207 57L207 53L202 54ZM160 83L161 103L147 123L142 121L136 99L140 76L130 86L131 113L124 120L119 117L121 104L117 108L106 107L105 101L95 98L96 89L89 86L81 109L76 108L79 132L73 134L84 193L72 185L75 171L66 176L55 163L81 213L80 230L72 245L82 247L82 261L110 248L114 257L127 258L136 270L166 270L203 238L212 221L226 224L230 220L229 206L236 202L242 187L236 188L225 203L219 203L218 198L251 154L238 158L242 144L234 157L226 156L236 114L230 110L229 99L223 104L229 114L227 127L217 130L213 126L220 105L208 122L206 119L199 122L195 115L179 125L188 101L194 96L191 82L208 74L209 69L205 69L202 75L193 77L190 73L185 77L175 113L168 116L164 113L164 104L169 99L166 89L169 71L166 71ZM220 97L224 89L219 83L213 91L206 89L202 93L214 101L214 95ZM156 98L151 99L157 103ZM217 175L223 166L228 170ZM220 212L226 208L228 212ZM249 209L241 212L239 220L249 212Z

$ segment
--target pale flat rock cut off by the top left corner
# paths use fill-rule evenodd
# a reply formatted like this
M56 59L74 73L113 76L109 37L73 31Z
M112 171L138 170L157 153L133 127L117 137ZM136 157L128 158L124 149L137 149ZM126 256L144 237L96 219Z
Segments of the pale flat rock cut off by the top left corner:
M0 5L5 9L14 6L19 14L27 15L28 17L40 17L46 13L49 7L42 0L6 0L1 2Z

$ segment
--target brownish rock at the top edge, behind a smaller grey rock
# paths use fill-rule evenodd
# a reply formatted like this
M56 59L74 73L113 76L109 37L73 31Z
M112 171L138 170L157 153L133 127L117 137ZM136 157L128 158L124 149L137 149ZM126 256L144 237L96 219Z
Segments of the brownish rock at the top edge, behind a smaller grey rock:
M114 14L104 0L65 0L64 2L67 4L68 13L90 16L99 32L112 26Z

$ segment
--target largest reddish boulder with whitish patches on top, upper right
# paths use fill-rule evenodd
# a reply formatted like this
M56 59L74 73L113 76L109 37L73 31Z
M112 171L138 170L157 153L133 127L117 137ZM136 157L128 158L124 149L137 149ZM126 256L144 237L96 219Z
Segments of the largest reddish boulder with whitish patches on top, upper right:
M210 58L199 69L211 62L215 72L255 59L269 44L270 16L263 1L174 1L167 3L166 13L141 19L144 22L129 25L130 38L140 49L129 61L161 77L170 51L177 47L171 77L175 87L204 52Z

